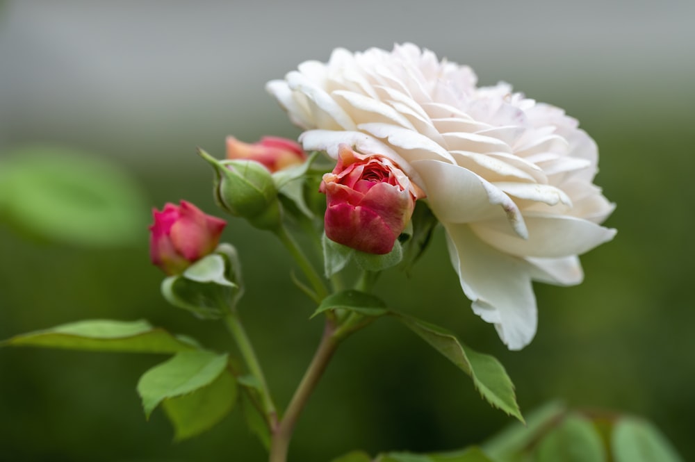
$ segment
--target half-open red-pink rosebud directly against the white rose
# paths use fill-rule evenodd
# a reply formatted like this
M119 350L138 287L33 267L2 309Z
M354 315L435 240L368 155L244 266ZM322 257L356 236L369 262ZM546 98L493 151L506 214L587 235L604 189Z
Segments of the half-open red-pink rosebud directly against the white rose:
M368 254L388 254L425 193L389 158L347 145L319 188L327 198L326 236Z

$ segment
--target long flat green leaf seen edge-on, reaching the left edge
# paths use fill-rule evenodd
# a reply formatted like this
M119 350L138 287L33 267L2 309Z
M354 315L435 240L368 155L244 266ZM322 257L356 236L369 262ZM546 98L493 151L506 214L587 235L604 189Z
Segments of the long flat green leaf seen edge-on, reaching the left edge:
M195 340L174 336L145 320L84 320L23 333L0 346L81 349L95 352L177 353L198 349Z

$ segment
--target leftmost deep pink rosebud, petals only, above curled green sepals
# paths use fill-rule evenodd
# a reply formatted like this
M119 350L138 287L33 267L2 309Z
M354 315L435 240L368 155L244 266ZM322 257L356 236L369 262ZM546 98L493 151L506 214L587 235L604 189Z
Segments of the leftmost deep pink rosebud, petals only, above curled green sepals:
M192 263L211 254L227 222L206 215L190 202L166 204L152 211L149 251L152 263L166 274L181 274Z

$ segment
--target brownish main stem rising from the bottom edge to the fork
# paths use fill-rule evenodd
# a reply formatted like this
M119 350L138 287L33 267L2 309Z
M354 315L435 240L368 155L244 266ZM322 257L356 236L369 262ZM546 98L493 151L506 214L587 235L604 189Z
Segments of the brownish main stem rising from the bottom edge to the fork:
M295 390L295 394L290 404L287 406L284 417L272 434L269 462L286 462L290 439L292 438L297 419L302 409L304 409L309 396L314 388L316 388L316 384L321 378L321 375L326 370L326 366L336 351L340 340L342 340L334 336L335 332L336 327L334 323L327 319L321 342L318 345L318 349L316 349L316 354L314 354L309 368L304 372L304 377L302 377L300 385L297 387L297 390Z

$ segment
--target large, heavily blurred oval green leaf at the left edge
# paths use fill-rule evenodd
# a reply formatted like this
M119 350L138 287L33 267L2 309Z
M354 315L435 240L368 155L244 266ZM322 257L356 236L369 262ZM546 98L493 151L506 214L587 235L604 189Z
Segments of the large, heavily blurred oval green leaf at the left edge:
M19 229L85 247L142 239L149 220L142 192L104 156L30 146L0 158L0 217Z

